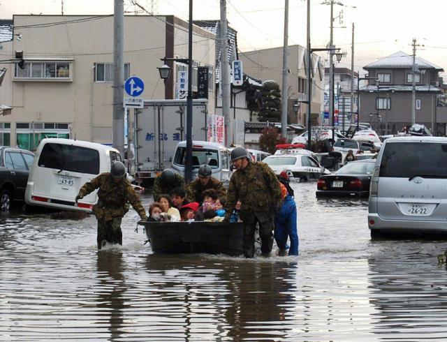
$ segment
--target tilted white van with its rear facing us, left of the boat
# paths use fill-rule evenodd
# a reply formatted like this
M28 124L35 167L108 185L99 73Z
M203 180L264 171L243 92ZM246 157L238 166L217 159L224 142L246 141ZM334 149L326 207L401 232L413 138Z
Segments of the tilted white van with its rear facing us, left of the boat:
M96 204L96 192L75 204L79 189L87 181L109 172L122 161L117 149L81 140L43 139L38 145L29 173L25 202L55 209L89 211Z

